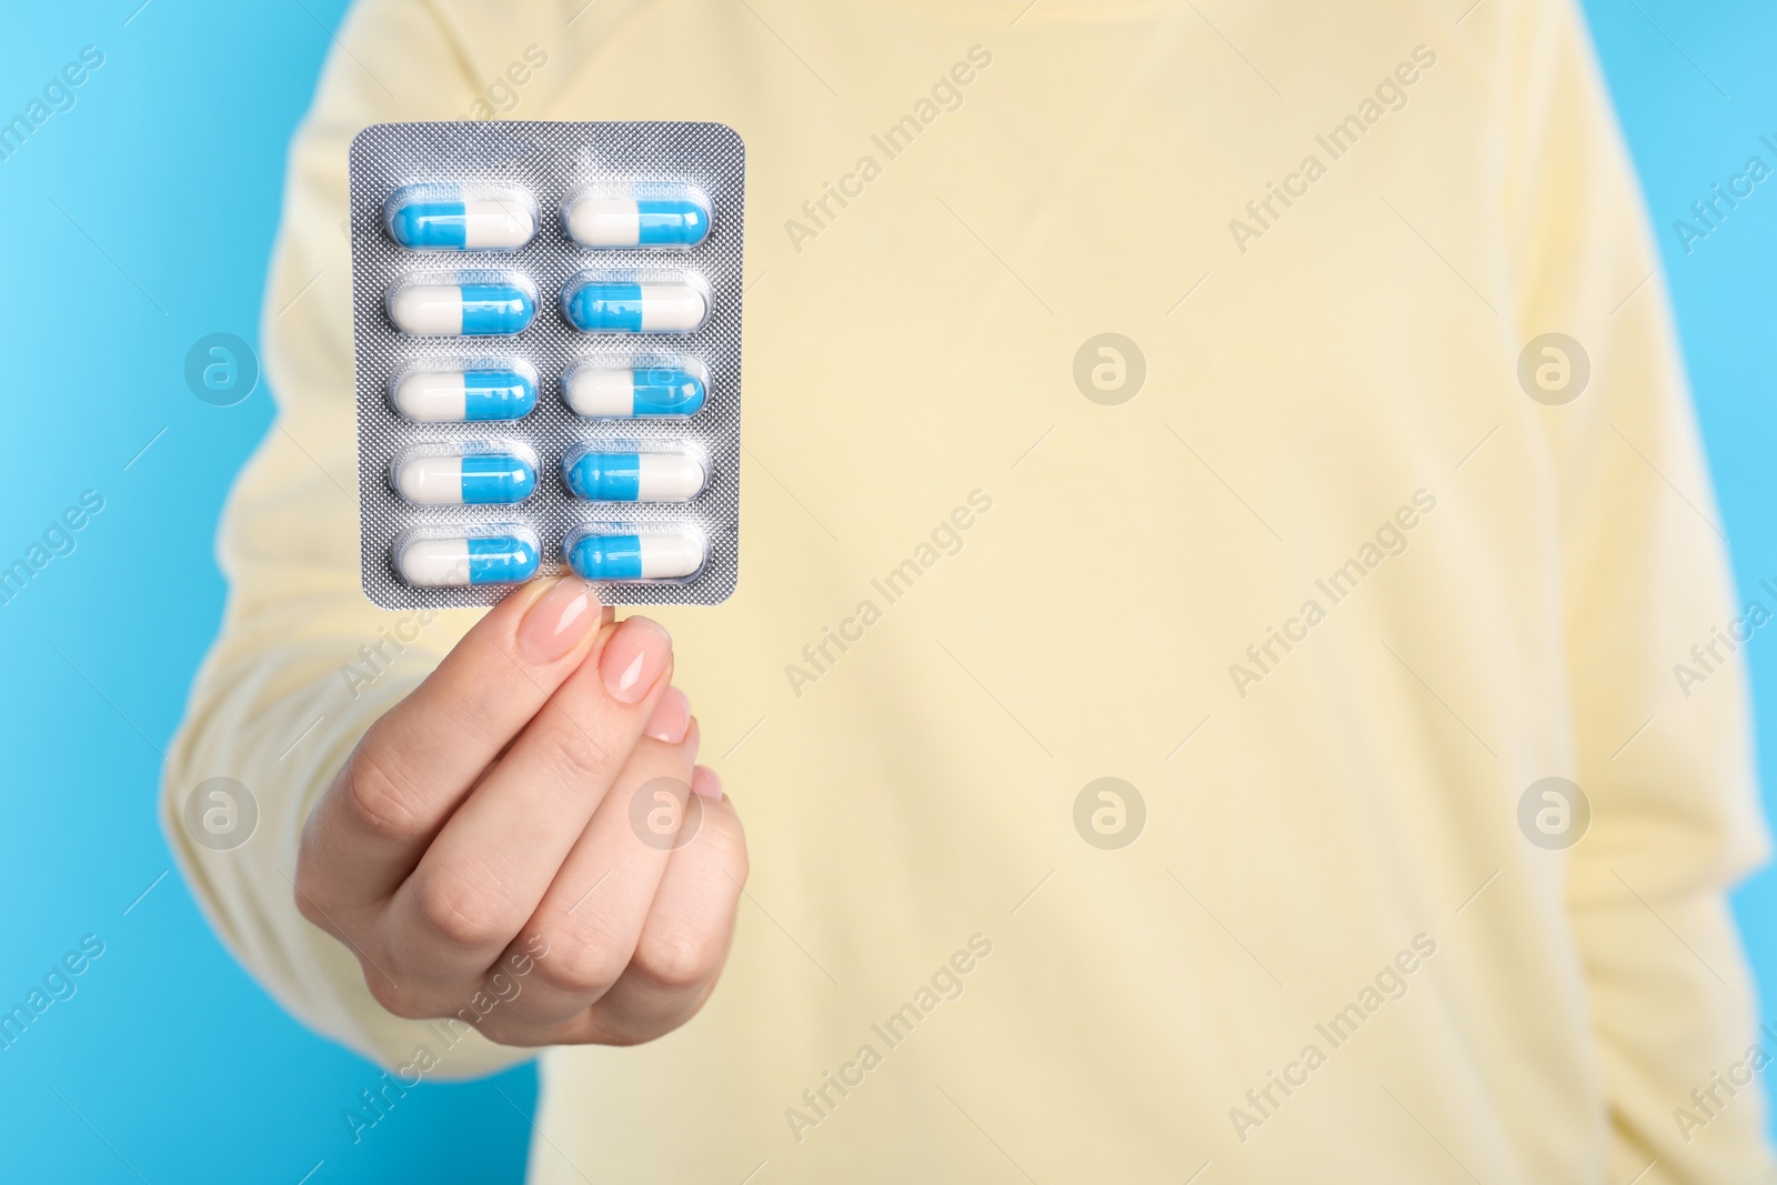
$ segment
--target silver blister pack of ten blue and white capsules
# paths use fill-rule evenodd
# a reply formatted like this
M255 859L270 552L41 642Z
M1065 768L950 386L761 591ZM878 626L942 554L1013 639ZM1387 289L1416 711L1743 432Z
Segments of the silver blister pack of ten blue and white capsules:
M739 574L746 149L713 123L405 123L350 155L364 593L606 604Z

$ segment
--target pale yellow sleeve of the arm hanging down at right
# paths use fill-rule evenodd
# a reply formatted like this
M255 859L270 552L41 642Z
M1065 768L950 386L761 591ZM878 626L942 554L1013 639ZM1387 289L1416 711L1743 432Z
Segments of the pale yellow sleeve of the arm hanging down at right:
M1749 1062L1756 997L1727 904L1768 855L1745 673L1729 647L1717 643L1708 672L1692 652L1741 616L1725 533L1582 20L1569 0L1496 20L1512 345L1564 332L1590 361L1578 398L1530 410L1560 501L1574 778L1592 810L1569 851L1567 901L1610 1100L1610 1180L1770 1181ZM1699 1105L1692 1091L1717 1073L1747 1082Z

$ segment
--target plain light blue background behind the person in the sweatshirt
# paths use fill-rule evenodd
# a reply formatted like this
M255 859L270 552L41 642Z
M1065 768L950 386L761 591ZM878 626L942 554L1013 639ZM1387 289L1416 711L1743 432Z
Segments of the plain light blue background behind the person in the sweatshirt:
M155 883L171 867L155 817L160 748L222 611L215 519L270 423L263 386L238 407L195 400L185 354L219 330L258 339L284 149L345 4L137 4L34 5L11 12L0 39L0 117L80 46L105 52L76 107L0 162L0 567L82 490L105 497L78 549L0 606L0 1006L82 934L107 943L78 995L0 1052L0 1176L295 1185L325 1162L315 1185L517 1181L533 1071L425 1086L354 1146L341 1110L377 1071L288 1020L217 945L176 872ZM1688 256L1672 220L1749 155L1772 160L1757 137L1777 139L1777 9L1587 11L1750 595L1777 579L1777 187ZM1777 787L1777 647L1763 638L1749 656L1766 693L1765 785ZM1734 904L1777 1020L1777 874Z

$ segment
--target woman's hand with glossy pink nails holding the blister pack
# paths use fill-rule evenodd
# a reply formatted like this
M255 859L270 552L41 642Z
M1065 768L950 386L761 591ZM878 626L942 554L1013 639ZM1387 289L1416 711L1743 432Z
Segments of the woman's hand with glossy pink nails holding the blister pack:
M297 908L396 1016L522 966L494 1041L677 1029L727 958L746 839L672 668L659 624L576 577L514 592L364 734L302 833Z

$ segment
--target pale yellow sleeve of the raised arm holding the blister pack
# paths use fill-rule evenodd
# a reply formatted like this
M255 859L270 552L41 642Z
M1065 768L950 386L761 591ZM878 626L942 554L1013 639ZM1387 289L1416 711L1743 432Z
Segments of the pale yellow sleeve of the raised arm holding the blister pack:
M572 60L560 7L499 14L366 0L334 36L291 146L261 313L277 416L222 515L227 608L162 780L169 846L235 958L299 1020L386 1066L409 1061L428 1041L426 1025L382 1011L352 952L297 913L297 842L363 732L474 616L386 613L359 588L347 149L371 123L480 115L485 80L528 41L565 59L526 91L542 107ZM492 94L505 99L512 87ZM231 849L197 842L185 823L192 791L217 776L242 783L258 807L251 837ZM439 1073L485 1073L522 1057L473 1034Z

